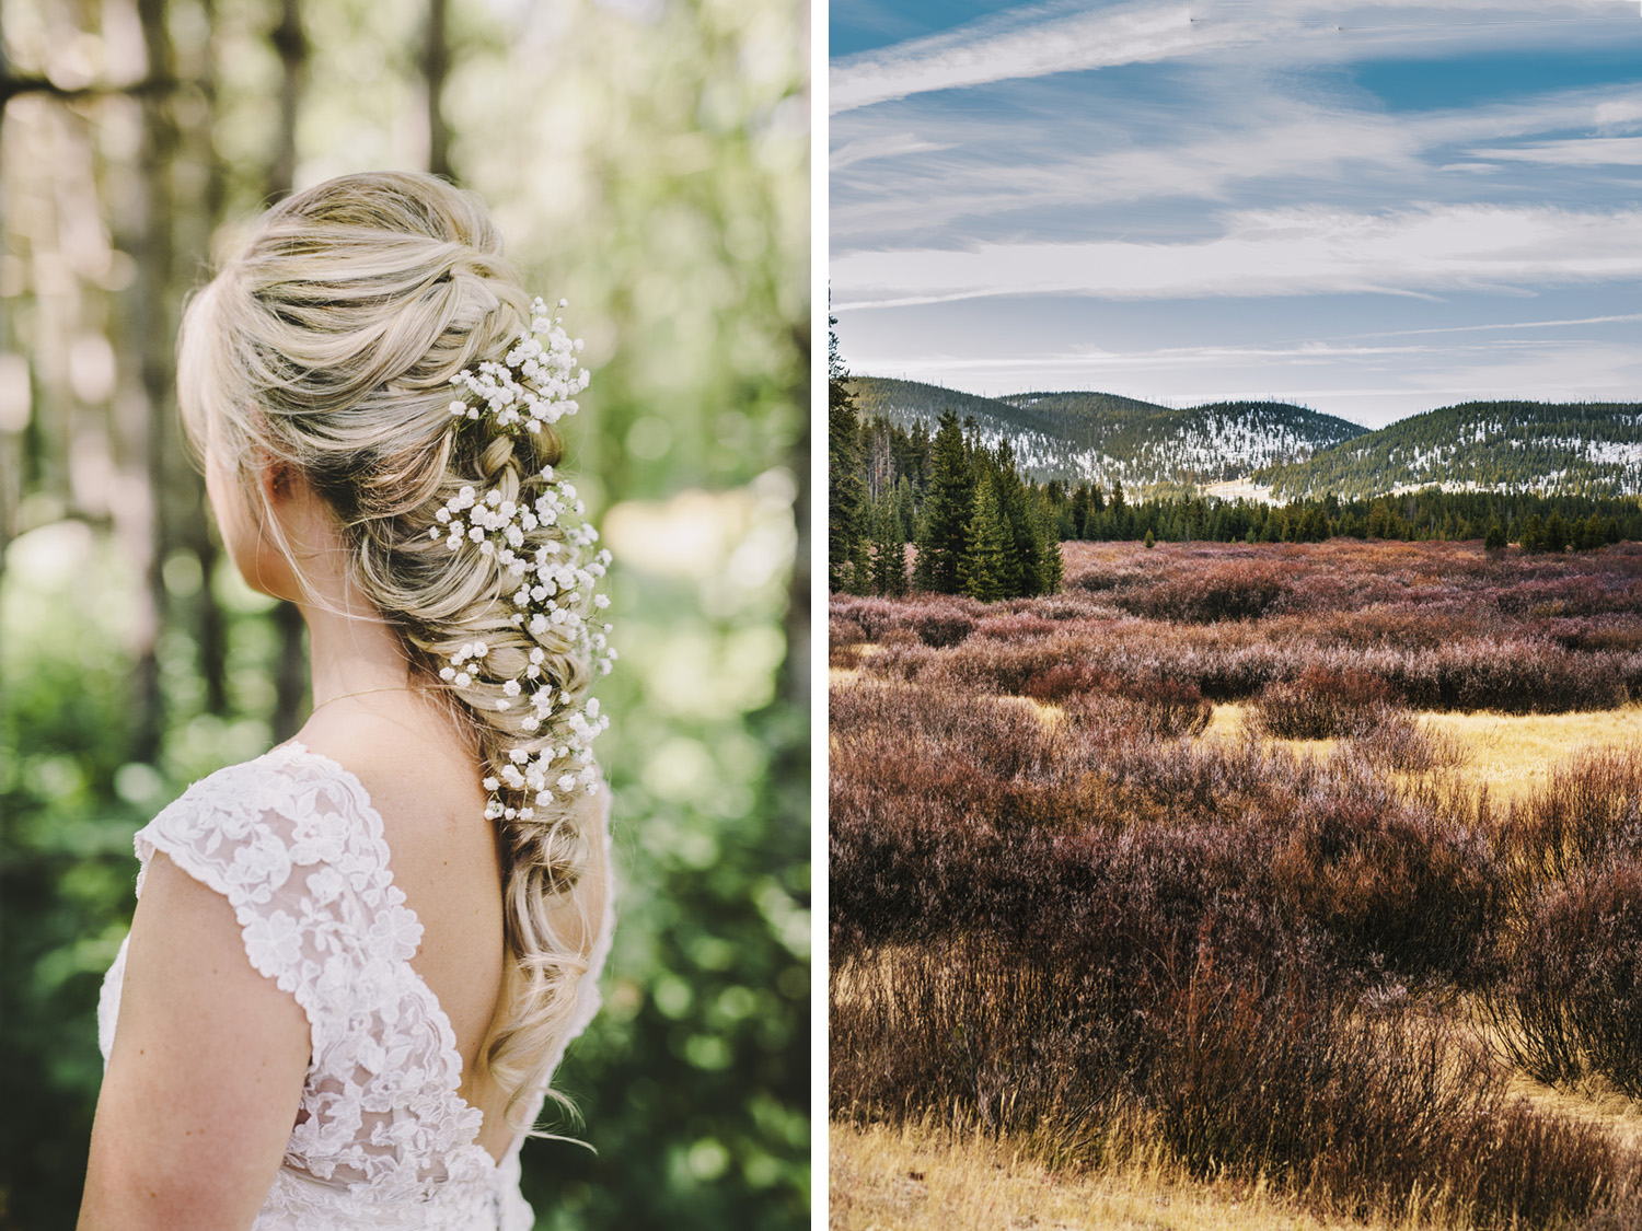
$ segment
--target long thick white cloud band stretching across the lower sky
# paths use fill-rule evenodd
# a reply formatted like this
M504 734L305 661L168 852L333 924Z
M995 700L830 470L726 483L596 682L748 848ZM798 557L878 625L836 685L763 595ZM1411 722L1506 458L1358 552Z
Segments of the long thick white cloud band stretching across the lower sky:
M1642 277L1642 210L1248 210L1200 243L985 243L832 261L837 310L982 295L1199 299L1566 286Z

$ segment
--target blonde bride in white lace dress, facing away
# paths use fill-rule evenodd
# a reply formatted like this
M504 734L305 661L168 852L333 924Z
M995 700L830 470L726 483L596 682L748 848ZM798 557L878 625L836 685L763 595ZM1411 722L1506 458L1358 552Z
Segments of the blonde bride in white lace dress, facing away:
M80 1228L532 1226L609 947L578 348L429 176L291 197L189 305L184 422L314 712L136 835Z

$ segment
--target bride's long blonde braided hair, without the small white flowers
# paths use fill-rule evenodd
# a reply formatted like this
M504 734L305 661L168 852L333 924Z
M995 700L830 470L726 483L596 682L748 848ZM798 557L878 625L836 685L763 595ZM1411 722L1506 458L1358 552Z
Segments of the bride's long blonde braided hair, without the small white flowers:
M414 675L440 689L486 776L501 775L516 750L552 757L555 732L552 724L529 730L524 707L498 707L501 683L476 673L466 684L468 676L440 683L453 653L483 638L493 673L514 678L542 650L545 683L570 706L593 675L585 650L557 625L532 634L509 620L494 558L452 551L429 535L463 486L519 501L521 486L560 461L552 428L519 438L488 425L458 428L448 409L450 379L502 358L529 310L478 197L432 176L376 172L276 205L192 299L179 338L177 400L194 448L202 451L215 428L213 450L236 466L261 524L276 533L258 466L296 468L330 504L351 588L399 634ZM525 550L548 543L565 545L562 527L535 527ZM506 1013L481 1062L507 1096L507 1121L522 1128L575 1011L598 931L588 903L603 903L608 868L588 803L557 794L511 811L524 816L496 817ZM566 904L576 936L555 924Z

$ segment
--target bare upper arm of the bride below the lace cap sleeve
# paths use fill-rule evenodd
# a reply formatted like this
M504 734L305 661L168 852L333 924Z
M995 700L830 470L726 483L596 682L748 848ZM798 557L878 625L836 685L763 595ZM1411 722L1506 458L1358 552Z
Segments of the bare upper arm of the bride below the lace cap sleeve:
M156 853L131 919L80 1231L248 1228L309 1050L307 1016L251 967L227 898Z

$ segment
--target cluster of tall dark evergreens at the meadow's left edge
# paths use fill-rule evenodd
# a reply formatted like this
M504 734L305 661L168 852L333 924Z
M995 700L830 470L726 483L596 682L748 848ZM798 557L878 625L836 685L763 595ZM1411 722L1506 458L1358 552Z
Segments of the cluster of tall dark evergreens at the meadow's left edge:
M934 433L921 422L864 420L837 338L829 341L828 586L987 602L1057 591L1059 519L1048 489L1021 478L1008 442L982 445L952 410ZM906 543L916 545L911 576Z

